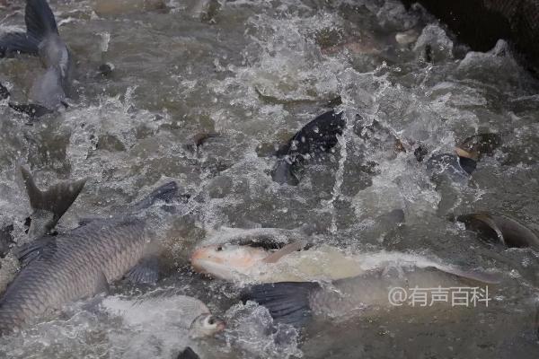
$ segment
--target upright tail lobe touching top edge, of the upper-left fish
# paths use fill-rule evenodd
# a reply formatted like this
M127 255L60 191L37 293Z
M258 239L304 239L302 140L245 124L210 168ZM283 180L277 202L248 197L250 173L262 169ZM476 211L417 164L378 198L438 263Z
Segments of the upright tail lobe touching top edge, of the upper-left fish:
M57 34L57 23L47 0L28 0L24 13L27 33L39 42L50 34Z

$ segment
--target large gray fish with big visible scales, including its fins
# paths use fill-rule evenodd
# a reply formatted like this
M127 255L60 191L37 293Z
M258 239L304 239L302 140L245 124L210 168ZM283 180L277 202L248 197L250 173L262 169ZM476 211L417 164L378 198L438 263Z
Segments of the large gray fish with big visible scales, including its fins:
M67 302L106 292L122 276L137 283L155 282L159 267L147 209L171 201L177 192L175 182L164 184L122 215L96 219L19 248L22 270L0 298L0 334Z

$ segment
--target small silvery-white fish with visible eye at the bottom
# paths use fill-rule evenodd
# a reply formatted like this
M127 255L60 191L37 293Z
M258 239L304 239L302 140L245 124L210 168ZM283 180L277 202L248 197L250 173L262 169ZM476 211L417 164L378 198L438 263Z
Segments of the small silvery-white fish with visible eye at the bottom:
M129 327L146 331L170 325L188 331L191 338L200 338L225 329L225 321L214 316L204 302L177 294L174 288L158 288L134 299L109 296L101 305L109 314L120 316Z

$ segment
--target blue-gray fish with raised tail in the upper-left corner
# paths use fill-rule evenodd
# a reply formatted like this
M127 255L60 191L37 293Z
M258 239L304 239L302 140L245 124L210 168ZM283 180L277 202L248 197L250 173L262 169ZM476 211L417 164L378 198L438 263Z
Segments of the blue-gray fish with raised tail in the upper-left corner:
M73 81L74 61L46 0L28 0L24 14L26 32L10 32L0 39L0 57L17 54L39 56L45 73L32 84L29 104L10 106L31 117L66 108Z

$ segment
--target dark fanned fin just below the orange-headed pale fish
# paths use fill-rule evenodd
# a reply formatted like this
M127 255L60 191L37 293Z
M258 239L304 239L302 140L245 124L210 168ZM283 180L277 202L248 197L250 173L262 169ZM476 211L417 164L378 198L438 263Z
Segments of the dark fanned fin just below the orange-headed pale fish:
M241 299L266 307L275 321L301 327L311 317L309 294L319 287L310 282L253 285L242 293Z

